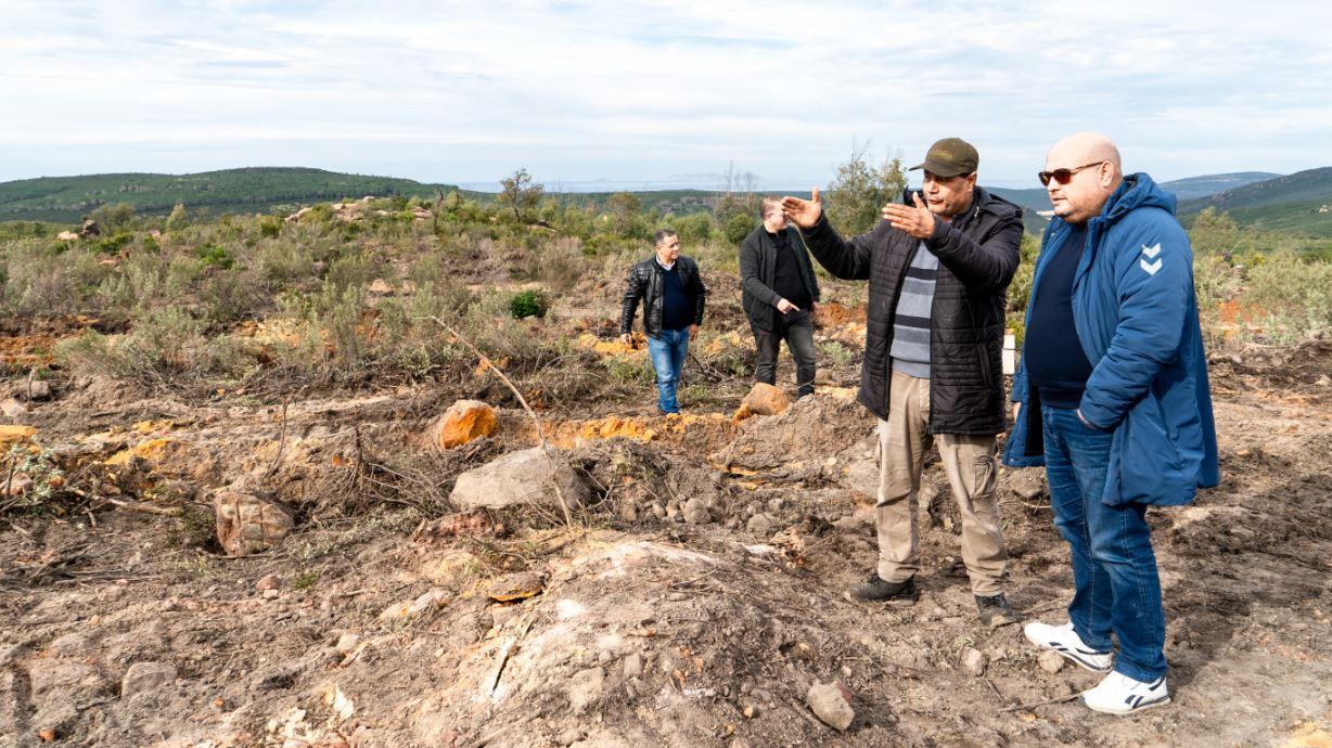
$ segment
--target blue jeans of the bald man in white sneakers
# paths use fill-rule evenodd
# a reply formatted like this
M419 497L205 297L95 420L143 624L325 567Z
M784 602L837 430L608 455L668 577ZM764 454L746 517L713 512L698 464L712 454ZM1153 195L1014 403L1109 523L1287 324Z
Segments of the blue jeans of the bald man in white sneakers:
M1166 611L1146 504L1107 506L1112 434L1083 425L1075 410L1042 406L1046 476L1055 527L1068 540L1074 602L1068 619L1098 652L1114 648L1115 669L1134 680L1166 675Z

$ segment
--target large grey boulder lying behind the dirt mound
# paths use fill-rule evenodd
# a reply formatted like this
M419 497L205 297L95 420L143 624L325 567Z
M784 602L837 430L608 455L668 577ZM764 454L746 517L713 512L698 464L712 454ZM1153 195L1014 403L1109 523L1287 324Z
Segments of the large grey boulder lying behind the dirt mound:
M558 451L547 455L542 447L531 447L458 475L449 498L461 510L506 508L525 502L558 506L555 486L570 506L587 499L587 486Z

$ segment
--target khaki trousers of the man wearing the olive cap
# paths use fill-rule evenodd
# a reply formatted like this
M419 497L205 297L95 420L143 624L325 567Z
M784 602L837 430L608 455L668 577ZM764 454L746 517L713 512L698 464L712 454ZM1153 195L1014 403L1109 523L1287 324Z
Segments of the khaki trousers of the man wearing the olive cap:
M930 381L892 373L888 419L879 421L879 576L906 582L920 571L916 552L916 494L920 467L930 450ZM980 596L1002 592L1008 563L995 495L998 466L994 437L936 434L943 470L962 512L962 559L971 591Z

